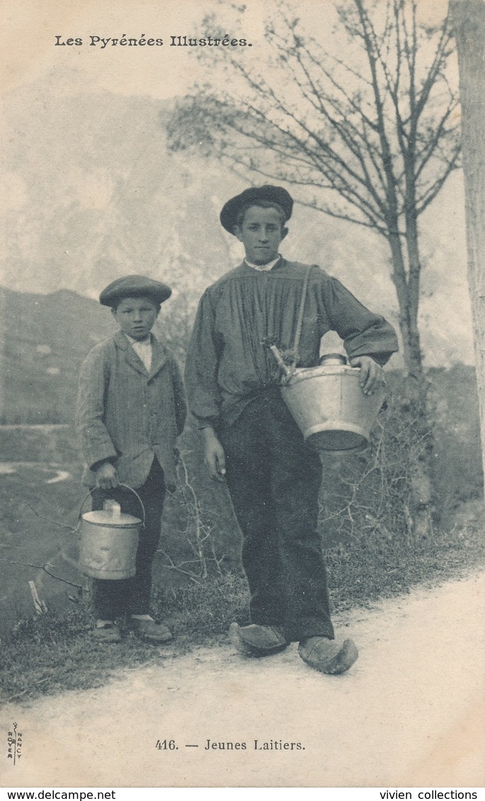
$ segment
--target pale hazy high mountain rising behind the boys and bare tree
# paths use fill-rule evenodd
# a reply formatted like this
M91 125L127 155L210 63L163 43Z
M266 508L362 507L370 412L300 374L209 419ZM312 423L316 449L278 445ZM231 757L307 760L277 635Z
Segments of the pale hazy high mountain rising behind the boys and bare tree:
M82 85L73 92L73 86L69 75L64 84L62 74L54 74L6 96L0 283L47 295L57 326L58 306L70 308L67 295L56 295L60 289L97 298L114 278L143 272L170 283L174 300L185 308L183 320L191 319L203 289L242 256L218 213L245 184L222 162L166 151L171 102ZM263 180L255 176L255 183ZM428 365L472 360L460 193L455 176L422 223L427 267L421 328ZM283 252L320 264L396 322L389 256L378 235L296 206ZM29 305L18 297L18 303L21 327L30 330L34 300ZM80 319L72 324L86 337L86 307L79 304ZM6 336L13 347L8 328Z

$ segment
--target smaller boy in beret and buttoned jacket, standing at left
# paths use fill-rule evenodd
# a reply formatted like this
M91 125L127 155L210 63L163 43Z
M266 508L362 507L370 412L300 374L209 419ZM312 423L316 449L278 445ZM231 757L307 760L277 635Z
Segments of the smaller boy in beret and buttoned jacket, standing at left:
M113 281L99 296L111 308L119 331L96 345L79 376L76 427L86 469L83 483L93 489L93 509L114 498L123 513L142 517L134 578L93 579L96 625L93 635L118 642L116 619L138 636L166 642L167 626L150 616L151 570L160 537L166 489L175 489L175 443L186 419L182 377L174 356L150 333L171 289L145 276Z

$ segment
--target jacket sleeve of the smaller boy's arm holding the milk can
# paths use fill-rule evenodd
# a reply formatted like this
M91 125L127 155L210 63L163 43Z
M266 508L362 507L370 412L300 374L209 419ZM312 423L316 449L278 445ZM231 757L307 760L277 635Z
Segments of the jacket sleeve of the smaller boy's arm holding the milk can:
M83 361L79 374L76 431L86 464L97 472L97 477L99 469L104 465L109 465L114 470L110 460L118 456L103 422L108 379L109 364L105 350L101 347L94 348Z

